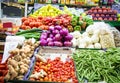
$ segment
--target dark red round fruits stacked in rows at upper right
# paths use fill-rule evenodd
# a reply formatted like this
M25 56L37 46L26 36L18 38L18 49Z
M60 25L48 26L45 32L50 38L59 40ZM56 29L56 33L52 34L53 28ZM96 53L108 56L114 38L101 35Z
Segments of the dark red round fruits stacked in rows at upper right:
M88 10L88 14L93 16L93 20L117 21L117 11L106 7L93 7Z

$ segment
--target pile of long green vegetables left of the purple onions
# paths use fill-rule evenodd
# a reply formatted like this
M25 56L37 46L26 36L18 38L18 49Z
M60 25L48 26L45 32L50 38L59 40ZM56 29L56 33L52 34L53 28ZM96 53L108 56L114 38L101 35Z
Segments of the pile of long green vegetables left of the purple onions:
M34 28L34 29L31 29L31 30L25 30L25 31L17 32L16 35L17 36L24 36L26 39L34 38L38 41L41 33L42 33L42 30Z

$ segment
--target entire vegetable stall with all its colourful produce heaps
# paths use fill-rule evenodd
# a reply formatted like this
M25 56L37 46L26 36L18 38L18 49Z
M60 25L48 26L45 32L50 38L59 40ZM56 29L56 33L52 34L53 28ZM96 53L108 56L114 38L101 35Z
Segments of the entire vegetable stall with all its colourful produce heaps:
M119 83L120 32L107 22L116 10L73 10L48 4L1 30L0 83Z

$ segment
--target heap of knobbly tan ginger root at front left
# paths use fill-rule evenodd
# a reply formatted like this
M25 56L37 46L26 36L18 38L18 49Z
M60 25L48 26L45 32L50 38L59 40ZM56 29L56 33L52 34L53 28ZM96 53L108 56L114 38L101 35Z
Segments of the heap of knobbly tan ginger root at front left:
M31 58L35 48L39 45L32 39L24 41L22 46L11 50L11 57L7 61L8 73L5 76L6 80L25 80L25 74L29 71L32 64Z

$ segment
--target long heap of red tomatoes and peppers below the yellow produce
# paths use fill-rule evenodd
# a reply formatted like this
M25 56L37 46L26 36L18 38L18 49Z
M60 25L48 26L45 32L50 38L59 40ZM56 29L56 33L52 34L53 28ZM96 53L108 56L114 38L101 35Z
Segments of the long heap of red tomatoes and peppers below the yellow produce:
M49 26L60 25L63 28L71 26L71 16L59 15L57 17L22 17L21 29L27 30L32 28L40 28L42 30L48 30Z

